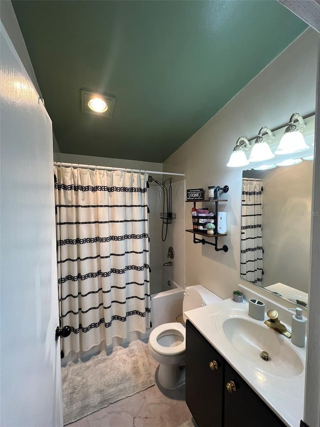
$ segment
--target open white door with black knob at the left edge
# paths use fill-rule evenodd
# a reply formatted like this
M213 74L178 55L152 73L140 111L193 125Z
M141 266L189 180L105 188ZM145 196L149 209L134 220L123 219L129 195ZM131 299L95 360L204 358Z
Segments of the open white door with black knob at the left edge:
M0 18L0 424L58 427L52 125Z

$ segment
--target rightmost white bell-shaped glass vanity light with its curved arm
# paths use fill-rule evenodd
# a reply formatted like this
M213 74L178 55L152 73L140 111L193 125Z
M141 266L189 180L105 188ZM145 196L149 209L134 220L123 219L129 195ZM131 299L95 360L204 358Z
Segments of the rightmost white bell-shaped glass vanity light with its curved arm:
M299 122L299 128L294 124L295 121ZM299 151L307 150L309 147L305 144L302 131L305 128L303 117L299 113L294 113L290 117L289 125L284 131L278 148L275 154L291 154L298 153Z

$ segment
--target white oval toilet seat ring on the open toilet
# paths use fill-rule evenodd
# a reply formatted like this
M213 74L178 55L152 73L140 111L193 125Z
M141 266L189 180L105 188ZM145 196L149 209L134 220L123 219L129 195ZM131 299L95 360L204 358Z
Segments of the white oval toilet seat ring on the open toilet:
M173 347L166 347L158 343L158 338L164 335L174 335L174 332L177 332L177 335L182 335L183 341L181 344L175 345ZM151 331L149 336L149 345L158 354L167 356L181 354L185 351L185 327L181 323L176 322L159 325Z

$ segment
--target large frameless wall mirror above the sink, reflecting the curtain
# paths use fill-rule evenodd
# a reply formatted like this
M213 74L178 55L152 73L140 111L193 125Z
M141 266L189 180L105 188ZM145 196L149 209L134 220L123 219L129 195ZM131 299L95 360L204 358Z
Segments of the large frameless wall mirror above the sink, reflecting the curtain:
M242 172L240 278L305 308L311 216L319 215L311 212L312 170L302 160Z

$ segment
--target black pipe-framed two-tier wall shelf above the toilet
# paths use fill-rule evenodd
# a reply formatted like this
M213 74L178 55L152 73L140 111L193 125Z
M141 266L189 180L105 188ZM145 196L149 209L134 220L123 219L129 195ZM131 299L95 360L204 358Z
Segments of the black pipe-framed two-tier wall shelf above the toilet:
M219 188L220 191L222 191L223 193L227 193L229 190L229 187L227 185L225 185L224 187L220 187ZM201 225L201 223L199 223L199 220L203 220L203 219L207 219L207 220L213 220L213 224L215 226L215 230L217 230L217 217L218 217L218 204L219 203L223 203L223 202L227 202L226 199L213 199L213 200L186 200L186 202L193 202L193 207L195 208L195 204L198 202L207 202L207 203L215 203L215 214L213 216L197 216L194 215L192 216L192 223L193 225L195 225L195 227L198 227L199 224ZM210 221L210 222L211 222ZM211 245L214 246L214 250L215 251L223 251L223 252L227 252L228 251L228 247L226 245L223 245L221 248L218 248L218 238L219 237L223 237L226 236L227 234L207 234L205 230L197 230L196 228L193 228L191 230L185 230L188 233L192 233L193 234L193 243L202 243L202 245ZM203 236L202 239L199 239L196 237L196 235L200 235ZM206 239L214 239L214 242L209 242L207 240L204 239L204 237Z

